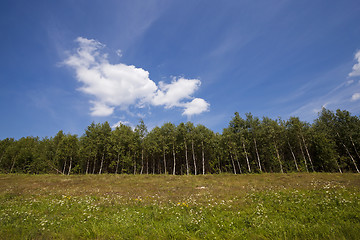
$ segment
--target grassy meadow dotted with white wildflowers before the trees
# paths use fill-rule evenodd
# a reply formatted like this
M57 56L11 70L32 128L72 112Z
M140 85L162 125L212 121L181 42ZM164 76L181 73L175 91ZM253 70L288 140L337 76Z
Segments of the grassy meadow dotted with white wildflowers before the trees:
M359 239L360 175L0 175L0 239Z

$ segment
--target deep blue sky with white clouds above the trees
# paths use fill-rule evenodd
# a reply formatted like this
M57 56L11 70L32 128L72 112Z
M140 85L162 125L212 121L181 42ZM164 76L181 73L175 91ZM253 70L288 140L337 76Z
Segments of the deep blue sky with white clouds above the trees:
M3 0L0 33L0 139L360 113L358 0Z

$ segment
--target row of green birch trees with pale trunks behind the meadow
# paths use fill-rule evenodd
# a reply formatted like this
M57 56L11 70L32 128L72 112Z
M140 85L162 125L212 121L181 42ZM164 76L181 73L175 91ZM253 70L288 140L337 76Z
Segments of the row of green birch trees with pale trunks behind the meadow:
M92 123L82 136L0 141L0 172L69 174L359 173L360 118L323 108L312 124L298 117L235 113L223 132L170 122L148 131Z

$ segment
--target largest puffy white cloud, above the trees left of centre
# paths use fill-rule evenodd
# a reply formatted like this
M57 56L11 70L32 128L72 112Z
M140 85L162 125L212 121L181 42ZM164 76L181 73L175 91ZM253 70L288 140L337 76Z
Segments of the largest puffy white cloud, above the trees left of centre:
M100 50L105 45L79 37L75 53L64 64L75 69L76 79L82 83L81 92L94 97L91 115L109 116L116 108L126 110L129 106L146 104L165 108L183 108L183 115L191 116L208 111L209 104L192 96L201 85L198 79L173 78L170 84L149 78L149 72L126 64L111 64ZM121 53L121 52L118 52Z

